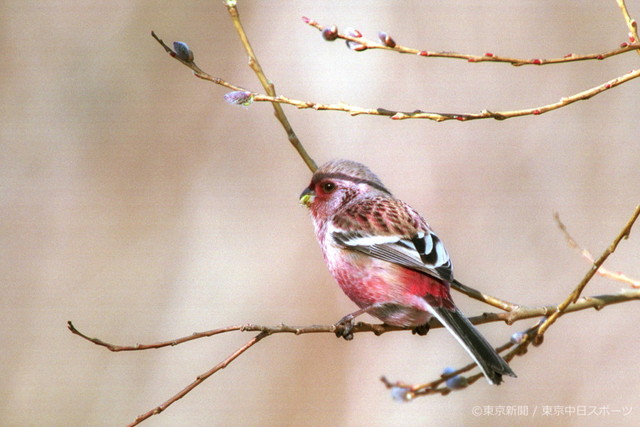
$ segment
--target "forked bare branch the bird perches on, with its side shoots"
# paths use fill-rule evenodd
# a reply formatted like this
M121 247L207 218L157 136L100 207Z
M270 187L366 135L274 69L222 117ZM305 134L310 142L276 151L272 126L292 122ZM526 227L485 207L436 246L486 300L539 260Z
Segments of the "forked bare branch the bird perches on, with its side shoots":
M598 269L604 263L607 257L616 250L620 241L623 238L628 238L631 232L631 228L633 227L633 224L637 220L638 216L640 216L640 205L636 207L633 215L631 216L627 224L624 226L622 231L611 243L611 245L604 251L604 253L598 258L598 260L594 262L592 268L589 270L587 275L578 284L578 286L569 295L569 297L567 297L567 299L562 303L555 306L551 305L551 306L541 306L541 307L524 307L524 306L518 306L511 303L502 302L501 300L497 300L497 299L493 300L492 297L489 297L489 300L486 301L488 304L495 305L496 301L498 301L498 303L506 304L504 308L508 309L509 311L500 312L500 313L484 313L481 316L472 317L469 320L473 324L483 324L483 323L489 323L489 322L502 321L510 325L519 320L529 319L533 317L542 317L543 320L541 320L537 325L527 329L524 332L514 334L511 340L509 340L507 343L503 344L501 347L498 347L496 349L498 352L504 352L515 345L515 347L512 348L511 351L509 351L504 355L505 360L508 362L517 355L525 354L529 344L531 343L533 343L534 345L541 344L542 338L544 336L544 332L555 322L555 320L560 315L575 312L575 311L580 311L580 310L586 310L588 308L595 308L596 310L601 310L603 307L606 307L607 305L631 301L631 300L639 300L640 289L623 289L617 294L598 295L598 296L580 298L580 294L582 293L582 290L587 285L589 280L593 277L595 272L598 271ZM566 228L564 230L566 231ZM575 242L573 241L573 239L571 239L571 241ZM476 291L475 289L468 288L459 283L458 285L462 286L462 291L465 292L466 294L471 294L471 295L479 294L483 298L485 299L487 298L486 296L481 294L479 291ZM430 328L434 328L434 329L442 327L442 325L435 319L432 319L429 322L429 325L430 325ZM185 388L183 388L173 397L168 399L166 402L140 415L138 418L136 418L136 420L132 424L130 424L130 425L137 425L140 422L148 419L149 417L164 411L167 407L169 407L179 399L183 398L191 390L193 390L195 387L200 385L204 380L206 380L211 375L218 372L220 369L224 369L236 358L238 358L242 353L247 351L258 341L262 340L263 338L269 335L273 335L276 333L294 333L296 335L309 334L309 333L335 333L336 331L338 331L339 328L344 328L345 325L341 323L334 324L334 325L311 325L311 326L302 326L302 327L287 326L284 324L274 326L274 327L266 327L266 326L260 326L260 325L252 325L252 324L236 325L236 326L228 326L225 328L213 329L206 332L194 333L192 335L182 337L182 338L177 338L170 341L163 341L155 344L136 344L134 346L115 345L115 344L107 343L98 338L89 337L88 335L76 329L75 326L70 321L67 322L67 326L73 334L78 335L81 338L89 342L92 342L93 344L96 344L101 347L105 347L111 351L139 351L139 350L148 350L152 348L175 346L175 345L178 345L187 341L191 341L194 339L210 337L213 335L218 335L221 333L232 332L232 331L243 331L243 332L259 331L260 332L258 335L256 335L254 338L249 340L246 344L244 344L238 350L234 351L230 356L228 356L222 362L215 365L209 371L199 375L195 379L195 381L187 385ZM351 332L352 333L373 332L376 335L381 335L385 332L403 330L403 329L406 329L406 328L398 328L398 327L389 326L385 324L368 324L368 323L360 322L354 326ZM518 338L514 339L514 337L518 337ZM448 386L441 386L441 384L443 382L446 382L450 378L453 378L457 375L460 375L464 372L467 372L473 369L474 366L475 366L475 363L468 364L463 368L460 368L452 373L442 375L441 378L426 384L407 385L402 382L391 383L384 377L382 378L382 381L385 383L387 388L391 388L394 391L394 395L401 396L401 398L406 400L413 399L414 397L417 397L417 396L430 395L430 394L436 394L436 393L447 394L451 391L451 389ZM478 374L469 376L467 378L464 378L464 383L466 385L471 385L475 383L481 376L482 374L478 373Z

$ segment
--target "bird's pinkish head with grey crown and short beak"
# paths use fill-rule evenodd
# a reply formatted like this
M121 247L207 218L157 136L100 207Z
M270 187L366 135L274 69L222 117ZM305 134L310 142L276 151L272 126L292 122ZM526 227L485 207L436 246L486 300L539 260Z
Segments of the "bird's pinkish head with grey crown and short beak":
M311 183L300 195L300 203L307 206L315 218L328 218L363 194L391 195L365 165L351 160L332 160L313 174Z

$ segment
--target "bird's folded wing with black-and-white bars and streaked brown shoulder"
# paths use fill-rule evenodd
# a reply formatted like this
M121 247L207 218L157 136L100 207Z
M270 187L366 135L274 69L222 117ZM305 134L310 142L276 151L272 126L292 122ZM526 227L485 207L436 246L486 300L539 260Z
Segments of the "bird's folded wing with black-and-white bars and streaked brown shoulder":
M338 213L327 231L346 249L453 281L444 245L420 214L400 200L361 201Z

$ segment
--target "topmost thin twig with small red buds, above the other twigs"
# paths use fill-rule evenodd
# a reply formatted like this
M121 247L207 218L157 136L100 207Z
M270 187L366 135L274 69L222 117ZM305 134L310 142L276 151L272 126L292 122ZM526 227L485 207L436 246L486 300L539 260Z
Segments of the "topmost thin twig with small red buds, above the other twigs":
M624 4L623 0L618 0L618 3L621 3L621 2ZM626 12L626 8L625 8L625 12ZM627 20L628 25L630 25L629 24L629 22L631 22L630 19L631 18L629 17L629 20ZM327 28L326 26L319 24L314 19L307 18L305 16L302 17L302 20L305 24L311 27L314 27L319 31L323 31ZM343 39L345 41L353 42L354 43L353 46L358 47L357 49L355 49L358 52L362 52L365 50L380 49L380 50L389 50L389 51L394 51L394 52L409 54L409 55L417 55L425 58L463 59L467 62L474 62L474 63L475 62L500 62L500 63L511 64L516 67L519 67L522 65L549 65L549 64L562 64L562 63L576 62L576 61L603 60L603 59L620 55L632 50L640 49L640 43L631 42L631 43L622 43L619 48L613 49L608 52L603 52L603 53L592 53L588 55L575 55L573 53L570 53L568 55L563 56L562 58L521 59L521 58L511 58L507 56L499 56L489 52L483 55L469 55L469 54L456 53L456 52L435 52L430 50L414 49L414 48L402 46L399 44L395 44L394 46L388 46L388 45L385 45L384 43L379 43L379 42L375 42L370 39L367 39L366 37L353 37L348 34L344 34L340 32L334 33L334 36L335 38L338 38L338 39ZM638 39L636 34L636 41L637 40Z

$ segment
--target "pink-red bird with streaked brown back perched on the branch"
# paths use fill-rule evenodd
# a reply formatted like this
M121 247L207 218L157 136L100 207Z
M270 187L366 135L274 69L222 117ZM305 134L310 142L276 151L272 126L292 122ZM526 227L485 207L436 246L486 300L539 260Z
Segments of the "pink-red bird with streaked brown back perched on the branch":
M359 307L336 324L343 326L338 336L353 338L353 319L364 313L419 335L435 317L490 384L516 376L454 304L452 263L442 241L367 166L342 159L323 164L300 203L309 209L331 275Z

